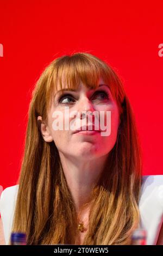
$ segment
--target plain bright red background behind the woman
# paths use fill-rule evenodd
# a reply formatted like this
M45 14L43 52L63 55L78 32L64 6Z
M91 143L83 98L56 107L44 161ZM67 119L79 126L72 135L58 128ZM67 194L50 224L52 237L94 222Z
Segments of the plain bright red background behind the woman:
M1 167L3 189L16 184L29 100L54 58L86 51L122 77L143 148L143 174L162 169L161 1L0 0Z

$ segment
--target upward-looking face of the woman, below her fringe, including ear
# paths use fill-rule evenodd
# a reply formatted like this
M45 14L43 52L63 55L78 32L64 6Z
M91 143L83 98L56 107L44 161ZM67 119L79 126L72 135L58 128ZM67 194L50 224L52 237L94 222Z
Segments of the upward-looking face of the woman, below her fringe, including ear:
M104 84L102 78L99 80L99 84ZM89 119L86 119L86 115L82 115L83 111L86 114L89 111L90 113L96 111L96 117L94 115L95 118L92 118L88 114ZM56 115L57 113L60 114ZM77 114L74 115L73 113ZM106 119L107 115L108 119ZM74 131L79 130L79 127L82 127L83 124L95 124L95 119L99 124L98 130L101 131L94 131L91 134ZM102 123L102 120L104 123ZM65 156L79 157L80 160L82 158L91 160L108 154L114 147L119 122L117 103L113 99L109 87L102 85L97 89L90 89L86 88L81 82L74 92L67 89L64 92L55 93L48 113L48 125L45 129L42 129L42 133L45 141L54 141L59 153ZM62 123L63 127L60 126L56 130L57 128L54 128L54 126L57 123ZM67 130L64 126L65 123L69 124L69 129ZM97 123L95 126L97 126ZM104 130L102 124L110 127L111 130L106 129L106 127ZM88 128L86 129L88 130ZM104 133L106 130L108 130L109 135L106 135L106 132Z

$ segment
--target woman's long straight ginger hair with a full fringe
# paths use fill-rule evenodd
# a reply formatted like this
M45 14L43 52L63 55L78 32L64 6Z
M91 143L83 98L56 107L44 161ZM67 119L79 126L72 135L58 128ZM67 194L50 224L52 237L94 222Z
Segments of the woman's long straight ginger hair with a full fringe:
M63 76L64 75L64 76ZM91 193L89 230L83 245L130 245L139 226L142 151L133 109L121 78L105 61L78 52L54 59L37 80L29 104L28 124L12 231L27 234L27 245L76 244L77 213L53 142L45 142L37 116L47 113L62 78L68 88L79 81L98 87L109 84L121 123L103 172Z

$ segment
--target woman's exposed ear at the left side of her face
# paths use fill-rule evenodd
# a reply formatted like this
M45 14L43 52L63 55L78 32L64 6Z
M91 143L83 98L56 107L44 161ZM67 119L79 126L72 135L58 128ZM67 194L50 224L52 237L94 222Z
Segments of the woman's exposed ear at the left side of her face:
M52 142L53 138L52 138L52 135L51 135L51 131L49 130L48 125L43 123L42 117L40 115L39 115L39 117L37 117L37 123L39 125L39 129L40 129L40 132L42 134L42 137L43 137L44 141Z

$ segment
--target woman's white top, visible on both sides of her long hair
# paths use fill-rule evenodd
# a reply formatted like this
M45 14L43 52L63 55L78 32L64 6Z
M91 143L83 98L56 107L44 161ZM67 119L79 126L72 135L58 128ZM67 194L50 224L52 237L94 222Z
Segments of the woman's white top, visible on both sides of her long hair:
M5 188L0 198L0 212L8 245L14 217L18 185ZM142 176L139 201L140 227L147 230L147 245L156 245L163 223L163 175Z

